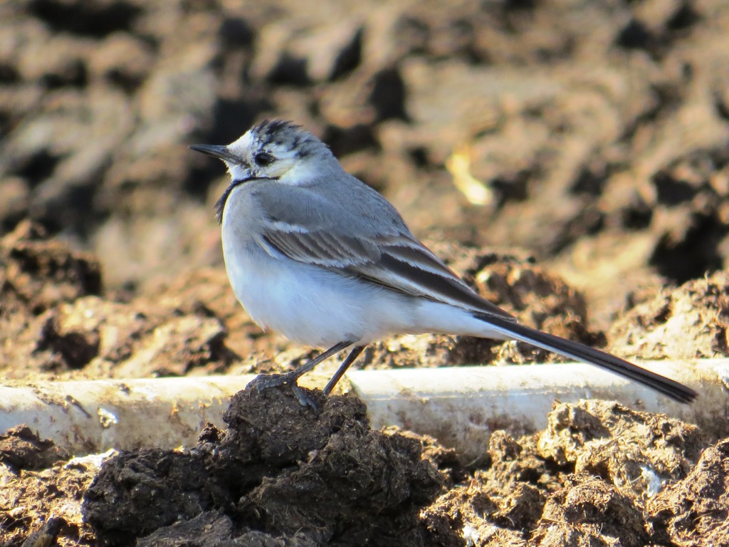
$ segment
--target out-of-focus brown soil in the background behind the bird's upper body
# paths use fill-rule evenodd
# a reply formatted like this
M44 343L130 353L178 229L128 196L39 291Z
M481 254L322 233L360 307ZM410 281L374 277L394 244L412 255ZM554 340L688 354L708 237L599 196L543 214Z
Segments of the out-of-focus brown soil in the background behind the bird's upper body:
M0 230L132 294L222 268L224 166L294 120L431 244L518 247L598 325L729 260L723 0L0 4Z

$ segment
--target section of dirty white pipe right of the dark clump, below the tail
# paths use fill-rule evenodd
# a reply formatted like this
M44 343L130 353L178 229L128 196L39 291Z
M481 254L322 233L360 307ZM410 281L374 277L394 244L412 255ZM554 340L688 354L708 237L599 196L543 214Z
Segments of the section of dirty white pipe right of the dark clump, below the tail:
M556 400L617 400L636 410L699 424L717 438L729 435L729 359L648 361L641 366L699 393L684 405L583 363L354 371L353 391L367 403L372 427L397 424L453 446L464 461L479 459L494 430L512 435L547 426Z

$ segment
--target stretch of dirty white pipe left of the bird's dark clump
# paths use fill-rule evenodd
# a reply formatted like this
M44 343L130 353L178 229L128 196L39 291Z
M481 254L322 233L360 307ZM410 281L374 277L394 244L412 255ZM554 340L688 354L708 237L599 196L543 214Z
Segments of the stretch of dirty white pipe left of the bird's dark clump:
M0 386L0 432L27 424L69 453L195 444L222 427L230 396L254 376L44 381Z

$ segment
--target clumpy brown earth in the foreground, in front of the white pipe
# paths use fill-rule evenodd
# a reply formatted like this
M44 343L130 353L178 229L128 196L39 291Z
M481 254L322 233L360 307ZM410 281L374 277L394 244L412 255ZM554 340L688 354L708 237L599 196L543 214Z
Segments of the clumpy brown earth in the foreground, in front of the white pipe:
M318 412L288 389L247 389L227 432L210 426L189 450L36 470L37 457L9 465L4 439L4 538L43 535L52 516L61 545L727 544L729 441L707 446L693 425L558 403L546 430L495 432L488 463L465 470L432 439L370 430L354 397L308 395Z

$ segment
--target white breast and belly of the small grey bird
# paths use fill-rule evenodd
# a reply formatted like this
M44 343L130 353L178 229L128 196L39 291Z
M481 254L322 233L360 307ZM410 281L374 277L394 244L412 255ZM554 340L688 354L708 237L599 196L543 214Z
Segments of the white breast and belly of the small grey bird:
M260 211L241 190L223 212L223 256L236 298L258 325L321 347L369 343L413 322L412 298L261 249L251 237Z

